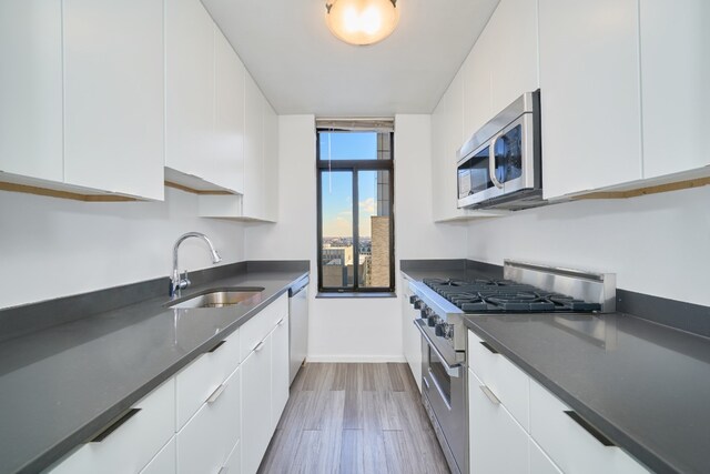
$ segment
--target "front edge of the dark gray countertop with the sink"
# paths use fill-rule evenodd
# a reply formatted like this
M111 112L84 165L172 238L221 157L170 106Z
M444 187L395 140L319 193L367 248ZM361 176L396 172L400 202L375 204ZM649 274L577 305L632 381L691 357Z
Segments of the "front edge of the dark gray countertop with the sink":
M258 272L254 272L258 274ZM112 406L106 409L103 413L95 416L91 422L84 424L79 430L67 435L64 440L54 444L52 447L47 450L44 453L38 455L33 460L26 463L22 467L20 467L17 473L18 474L31 474L37 472L42 472L42 470L47 470L51 467L54 463L62 460L64 456L71 454L75 448L79 448L83 443L87 442L92 435L97 434L99 431L109 425L112 421L119 417L124 411L130 409L133 404L139 402L145 395L148 395L153 390L158 389L161 384L168 381L170 377L175 375L180 370L187 366L192 361L202 355L206 350L212 347L219 340L226 337L234 333L240 326L250 321L256 314L258 314L264 307L268 306L271 303L276 301L281 295L287 293L293 284L298 282L300 280L306 278L310 274L310 270L303 271L298 273L296 278L290 281L286 285L275 291L264 301L258 303L257 306L244 313L241 317L235 320L232 324L214 334L212 337L204 341L201 345L199 345L195 350L182 356L175 363L173 363L170 367L165 369L159 374L155 374L149 382L141 385L139 389L131 392L129 395L123 397L120 402L114 403ZM210 285L213 283L209 283Z

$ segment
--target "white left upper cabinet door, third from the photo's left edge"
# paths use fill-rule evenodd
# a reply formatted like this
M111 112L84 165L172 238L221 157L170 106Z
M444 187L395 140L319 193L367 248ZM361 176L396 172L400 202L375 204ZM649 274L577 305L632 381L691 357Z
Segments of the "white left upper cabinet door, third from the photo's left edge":
M165 2L165 167L210 181L214 167L214 23L200 0Z

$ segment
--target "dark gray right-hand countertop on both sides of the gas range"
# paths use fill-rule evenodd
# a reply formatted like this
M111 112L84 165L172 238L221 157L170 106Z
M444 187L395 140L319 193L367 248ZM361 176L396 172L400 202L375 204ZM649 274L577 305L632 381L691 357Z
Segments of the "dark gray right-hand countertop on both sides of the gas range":
M407 270L414 279L471 276ZM710 340L630 314L465 319L467 327L659 473L710 473Z

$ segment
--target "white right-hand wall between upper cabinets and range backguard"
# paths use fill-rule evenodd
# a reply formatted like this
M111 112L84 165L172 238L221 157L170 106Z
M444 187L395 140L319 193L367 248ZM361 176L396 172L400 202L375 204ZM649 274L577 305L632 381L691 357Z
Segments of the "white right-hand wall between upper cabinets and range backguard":
M468 258L617 274L617 288L710 305L710 186L578 201L474 222Z

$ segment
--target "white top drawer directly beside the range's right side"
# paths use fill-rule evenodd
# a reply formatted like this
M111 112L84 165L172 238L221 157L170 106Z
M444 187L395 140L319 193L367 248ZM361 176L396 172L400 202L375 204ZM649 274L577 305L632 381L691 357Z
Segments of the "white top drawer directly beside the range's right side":
M468 331L468 366L529 432L530 377L471 331Z

